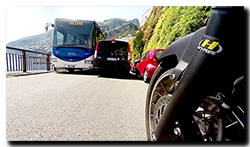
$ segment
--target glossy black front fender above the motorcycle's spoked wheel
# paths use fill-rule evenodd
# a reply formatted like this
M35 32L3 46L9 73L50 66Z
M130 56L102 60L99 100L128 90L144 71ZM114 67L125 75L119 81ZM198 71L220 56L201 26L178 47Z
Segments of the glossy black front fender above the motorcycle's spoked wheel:
M163 68L166 69L175 67L173 73L178 79L182 71L187 67L205 30L206 27L203 27L173 42L157 59L158 63L162 63Z

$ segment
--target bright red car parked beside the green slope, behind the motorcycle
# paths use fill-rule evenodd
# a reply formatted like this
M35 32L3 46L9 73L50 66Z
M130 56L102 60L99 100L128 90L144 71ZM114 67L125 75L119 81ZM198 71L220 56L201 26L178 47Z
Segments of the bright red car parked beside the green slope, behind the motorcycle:
M143 81L148 83L158 66L157 58L164 51L164 49L153 49L147 51L140 60L135 60L131 66L131 72L141 75Z

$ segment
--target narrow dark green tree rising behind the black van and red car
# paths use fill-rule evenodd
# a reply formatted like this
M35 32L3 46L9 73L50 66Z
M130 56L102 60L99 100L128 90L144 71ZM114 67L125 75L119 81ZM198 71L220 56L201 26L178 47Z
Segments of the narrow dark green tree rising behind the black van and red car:
M143 53L143 48L144 48L144 41L142 40L143 38L143 31L139 31L134 40L133 40L133 43L134 43L134 52L136 54L136 56L138 57L138 59L141 58L142 56L142 53Z

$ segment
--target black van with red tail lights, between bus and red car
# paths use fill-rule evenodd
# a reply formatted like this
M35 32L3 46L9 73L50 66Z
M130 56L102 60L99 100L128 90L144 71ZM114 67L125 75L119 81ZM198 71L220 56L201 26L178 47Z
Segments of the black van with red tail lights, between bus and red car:
M94 53L95 69L115 69L125 74L130 70L130 48L128 42L100 40Z

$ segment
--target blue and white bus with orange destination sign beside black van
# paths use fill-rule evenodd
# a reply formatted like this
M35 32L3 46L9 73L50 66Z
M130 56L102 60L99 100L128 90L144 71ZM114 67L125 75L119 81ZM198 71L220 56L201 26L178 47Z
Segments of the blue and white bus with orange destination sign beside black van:
M48 23L45 29L48 29ZM105 37L95 21L55 19L52 47L54 69L93 69L96 43Z

